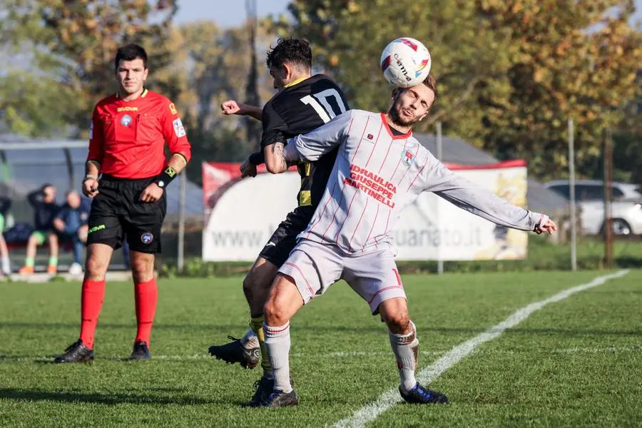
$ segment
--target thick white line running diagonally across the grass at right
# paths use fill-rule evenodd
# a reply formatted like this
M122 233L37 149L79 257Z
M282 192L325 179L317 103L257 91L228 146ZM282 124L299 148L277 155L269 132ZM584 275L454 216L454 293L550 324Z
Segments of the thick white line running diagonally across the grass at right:
M452 348L452 350L450 350L446 355L439 358L439 360L434 362L432 365L419 372L419 374L417 374L417 381L422 384L429 384L434 379L437 379L437 377L439 377L443 372L448 370L453 365L456 365L464 357L473 352L479 345L484 342L489 342L496 337L499 337L499 335L501 335L501 333L503 333L505 330L515 327L520 322L526 320L526 318L528 318L533 312L540 310L542 307L548 305L549 303L559 302L560 300L566 299L566 297L574 295L576 292L597 287L598 285L602 285L604 282L612 280L613 278L623 277L628 272L628 270L619 270L618 272L612 273L610 275L596 277L591 282L587 282L586 284L578 285L576 287L571 287L549 297L548 299L540 300L539 302L534 302L530 305L522 307L521 309L514 312L513 315L506 318L506 320L500 322L498 325L490 327L488 330L481 333L480 335L473 337L471 340L467 340L466 342L463 342ZM377 417L379 417L379 414L382 414L394 404L397 404L401 401L402 398L399 396L399 391L397 390L397 388L390 389L389 391L384 392L379 397L379 399L377 399L377 401L366 404L364 407L353 413L352 416L341 419L334 426L337 428L362 428L368 422L377 419Z

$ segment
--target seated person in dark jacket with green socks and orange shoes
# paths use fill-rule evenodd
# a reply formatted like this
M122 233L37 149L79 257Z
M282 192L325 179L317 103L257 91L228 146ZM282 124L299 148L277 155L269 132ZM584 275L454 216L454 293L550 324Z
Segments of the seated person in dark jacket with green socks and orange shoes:
M58 272L58 235L54 233L54 218L58 213L56 205L56 188L51 184L43 185L39 190L29 193L27 200L34 208L34 232L27 241L24 266L21 274L34 273L36 250L38 245L49 243L49 265L47 273L55 275Z

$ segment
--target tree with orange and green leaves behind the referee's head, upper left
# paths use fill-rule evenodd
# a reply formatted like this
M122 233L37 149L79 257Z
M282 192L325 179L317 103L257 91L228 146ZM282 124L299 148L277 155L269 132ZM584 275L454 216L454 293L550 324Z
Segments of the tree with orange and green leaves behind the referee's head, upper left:
M4 113L12 131L79 136L88 128L93 104L116 90L118 46L147 46L152 70L170 60L164 48L175 0L4 0L1 8L1 41L16 57L11 65L23 73L0 79L0 91L13 88L21 95ZM45 91L25 88L34 81ZM11 99L10 92L0 95ZM71 128L58 129L62 123Z

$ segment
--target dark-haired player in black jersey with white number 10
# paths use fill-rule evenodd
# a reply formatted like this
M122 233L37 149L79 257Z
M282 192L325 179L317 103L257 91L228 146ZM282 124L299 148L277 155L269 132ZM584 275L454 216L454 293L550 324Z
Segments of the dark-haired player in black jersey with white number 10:
M285 171L288 165L282 163L280 153L288 138L313 131L348 109L345 95L335 82L322 74L311 76L312 51L307 41L280 39L267 53L267 67L279 91L263 108L233 100L221 104L225 115L251 116L263 122L260 150L241 165L243 177L254 177L257 165L264 162L271 173ZM263 305L277 270L296 245L297 235L310 223L336 156L334 151L319 161L297 165L301 176L298 206L280 223L243 280L243 292L250 305L250 330L241 339L230 336L233 342L209 349L214 357L229 363L239 362L246 368L258 365L260 352L263 377L256 383L257 390L248 403L252 406L260 405L274 385L272 367L265 353Z

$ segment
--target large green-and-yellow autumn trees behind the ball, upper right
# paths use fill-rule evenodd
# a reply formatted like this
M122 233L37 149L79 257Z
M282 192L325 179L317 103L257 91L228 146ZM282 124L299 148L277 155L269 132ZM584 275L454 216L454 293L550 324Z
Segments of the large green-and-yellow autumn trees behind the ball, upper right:
M528 159L539 178L566 173L568 118L580 173L595 173L601 130L621 122L639 90L631 0L295 0L289 11L276 31L310 39L316 63L357 108L387 108L383 47L399 36L424 41L442 95L419 131L443 121L499 158Z

